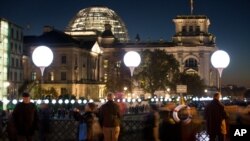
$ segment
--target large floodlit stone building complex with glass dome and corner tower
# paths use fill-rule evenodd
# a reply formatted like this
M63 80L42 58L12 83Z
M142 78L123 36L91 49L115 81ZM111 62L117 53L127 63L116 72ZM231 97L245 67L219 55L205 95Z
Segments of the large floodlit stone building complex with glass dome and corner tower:
M59 94L100 98L104 96L107 77L112 77L108 76L107 70L114 52L119 49L138 52L161 49L175 56L181 72L198 74L207 86L217 86L217 71L210 63L211 54L217 47L215 36L208 30L209 19L204 15L182 15L173 22L176 33L172 41L129 42L125 24L115 12L102 6L83 9L65 32L45 26L42 35L25 37L25 56L29 63L24 65L27 69L24 78L31 82L43 79L42 87L54 87ZM55 56L43 78L30 61L32 51L39 45L50 47ZM117 62L117 67L122 59Z

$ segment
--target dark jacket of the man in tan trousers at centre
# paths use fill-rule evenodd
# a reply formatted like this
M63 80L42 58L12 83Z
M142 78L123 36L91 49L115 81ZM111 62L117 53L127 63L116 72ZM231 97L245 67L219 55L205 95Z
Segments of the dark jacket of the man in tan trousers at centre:
M108 101L100 108L99 115L101 126L117 127L120 126L121 112L118 104L114 101Z

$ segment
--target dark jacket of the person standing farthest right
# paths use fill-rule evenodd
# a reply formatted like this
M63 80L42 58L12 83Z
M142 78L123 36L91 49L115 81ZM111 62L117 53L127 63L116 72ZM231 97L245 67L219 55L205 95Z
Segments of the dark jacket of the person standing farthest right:
M212 100L205 108L205 119L208 134L221 133L221 123L227 119L224 105L217 99Z

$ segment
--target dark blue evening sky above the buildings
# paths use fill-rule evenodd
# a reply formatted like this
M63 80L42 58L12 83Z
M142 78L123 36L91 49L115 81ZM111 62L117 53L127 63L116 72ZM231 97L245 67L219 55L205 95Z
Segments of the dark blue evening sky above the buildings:
M190 14L189 0L3 0L0 17L20 26L30 25L25 35L40 35L44 25L64 30L81 9L104 5L125 22L131 40L137 33L142 40L171 40L172 19ZM222 84L250 88L250 1L194 0L194 14L210 19L209 32L216 36L219 49L228 52L229 66Z

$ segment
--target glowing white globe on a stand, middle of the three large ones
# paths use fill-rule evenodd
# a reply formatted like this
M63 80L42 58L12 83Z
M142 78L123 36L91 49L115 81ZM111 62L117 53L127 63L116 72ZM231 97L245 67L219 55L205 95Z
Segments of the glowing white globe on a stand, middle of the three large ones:
M135 67L138 67L139 64L141 63L141 57L139 53L135 51L129 51L124 55L123 61L125 65L129 67L129 70L130 70L130 75L131 75L130 84L131 84L131 92L132 92L132 76L133 76Z

